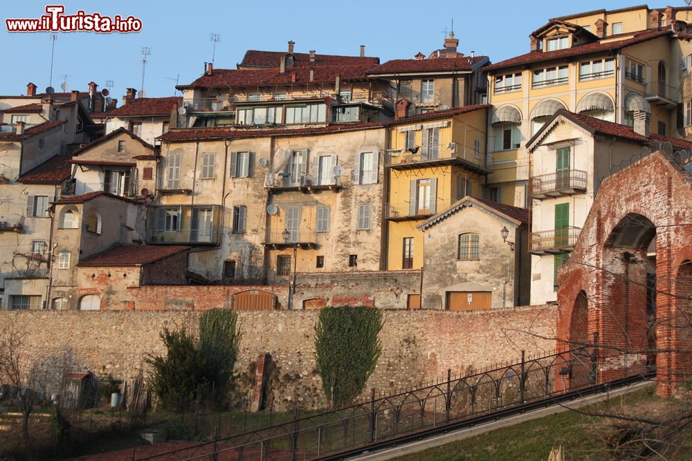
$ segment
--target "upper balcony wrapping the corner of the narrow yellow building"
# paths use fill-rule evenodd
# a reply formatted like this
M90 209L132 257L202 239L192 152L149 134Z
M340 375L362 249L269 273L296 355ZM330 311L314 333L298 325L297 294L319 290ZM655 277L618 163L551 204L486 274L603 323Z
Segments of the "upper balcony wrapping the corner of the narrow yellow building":
M403 151L394 155L390 153L385 165L392 169L410 169L435 167L445 164L457 164L474 173L488 174L493 172L494 160L491 156L475 151L457 142L450 142L436 149L416 147L415 152Z

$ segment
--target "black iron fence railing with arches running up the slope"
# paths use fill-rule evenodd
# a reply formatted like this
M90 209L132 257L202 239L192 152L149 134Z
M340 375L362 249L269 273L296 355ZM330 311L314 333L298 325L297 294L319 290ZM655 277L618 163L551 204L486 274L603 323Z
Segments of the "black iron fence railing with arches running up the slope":
M597 382L596 348L579 348L508 362L466 376L452 377L428 386L376 396L352 406L299 417L264 429L215 438L137 461L163 460L295 460L338 455L343 451L384 442L437 426L471 420L567 391L588 388Z

